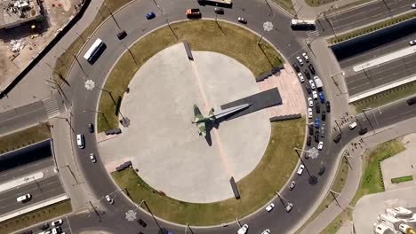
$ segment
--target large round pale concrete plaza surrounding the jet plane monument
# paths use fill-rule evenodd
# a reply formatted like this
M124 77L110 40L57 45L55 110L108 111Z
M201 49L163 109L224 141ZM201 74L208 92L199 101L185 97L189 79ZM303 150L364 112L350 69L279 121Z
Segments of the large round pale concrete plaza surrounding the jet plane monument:
M131 120L123 134L100 143L108 170L132 160L139 175L156 190L189 202L234 197L236 182L259 163L268 145L270 122L265 110L212 129L212 146L198 136L192 105L220 109L259 92L250 70L233 58L194 51L188 61L183 44L161 51L140 68L129 85L121 111ZM134 146L133 146L134 145Z

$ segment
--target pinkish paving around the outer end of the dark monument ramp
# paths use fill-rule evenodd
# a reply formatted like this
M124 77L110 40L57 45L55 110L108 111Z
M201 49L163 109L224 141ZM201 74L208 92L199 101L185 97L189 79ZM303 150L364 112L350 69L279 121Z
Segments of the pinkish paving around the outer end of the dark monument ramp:
M284 64L284 69L277 74L273 74L268 79L258 82L260 91L277 88L282 98L282 105L268 108L270 117L306 113L305 96L302 91L302 84L297 74L293 72L292 66Z

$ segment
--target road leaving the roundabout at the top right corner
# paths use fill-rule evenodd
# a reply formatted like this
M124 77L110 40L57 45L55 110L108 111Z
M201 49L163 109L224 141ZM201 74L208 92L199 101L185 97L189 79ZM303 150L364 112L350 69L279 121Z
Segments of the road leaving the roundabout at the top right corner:
M392 15L412 11L411 4L413 3L413 0L375 1L345 12L333 14L329 12L326 17L321 15L320 19L316 20L316 27L320 35L339 35L343 31L362 27L377 20L387 20Z

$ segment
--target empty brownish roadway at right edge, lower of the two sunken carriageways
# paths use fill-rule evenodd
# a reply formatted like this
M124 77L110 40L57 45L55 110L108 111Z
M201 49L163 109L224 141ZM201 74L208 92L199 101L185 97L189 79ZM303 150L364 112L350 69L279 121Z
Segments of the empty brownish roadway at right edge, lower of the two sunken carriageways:
M395 82L398 78L414 75L416 74L416 66L413 66L415 63L416 55L412 54L350 75L345 78L349 96L355 96L389 82Z

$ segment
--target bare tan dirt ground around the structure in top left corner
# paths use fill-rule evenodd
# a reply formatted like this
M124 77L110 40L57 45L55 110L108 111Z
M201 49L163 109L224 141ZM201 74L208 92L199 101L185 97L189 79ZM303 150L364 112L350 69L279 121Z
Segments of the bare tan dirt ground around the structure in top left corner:
M44 0L45 21L37 23L37 29L31 29L32 23L0 30L0 87L3 90L33 58L50 43L53 37L75 15L81 0ZM21 40L24 47L18 53L12 52L12 40ZM13 58L13 54L17 57ZM46 77L45 77L46 78Z

